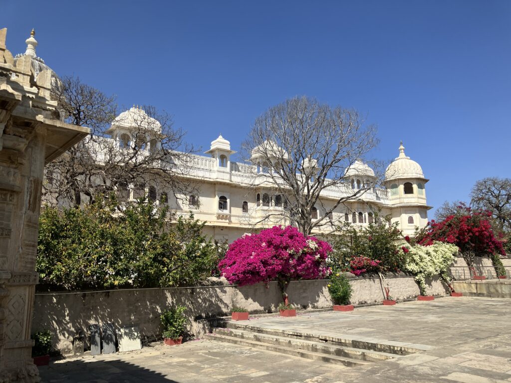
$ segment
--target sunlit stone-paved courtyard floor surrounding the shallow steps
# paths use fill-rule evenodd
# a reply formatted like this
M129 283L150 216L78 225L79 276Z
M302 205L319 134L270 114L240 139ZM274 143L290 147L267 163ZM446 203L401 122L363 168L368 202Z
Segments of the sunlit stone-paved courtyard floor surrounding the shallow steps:
M510 314L509 299L447 297L357 308L353 313L321 312L240 322L430 346L422 353L357 368L200 340L56 361L40 368L40 374L45 382L80 383L509 382Z

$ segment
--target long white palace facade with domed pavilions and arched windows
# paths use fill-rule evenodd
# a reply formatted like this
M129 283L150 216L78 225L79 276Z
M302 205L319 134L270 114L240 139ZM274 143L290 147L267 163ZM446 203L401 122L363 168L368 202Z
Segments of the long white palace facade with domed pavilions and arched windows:
M150 117L144 110L133 107L116 118L106 131L113 145L125 148L130 145L133 132L140 131L140 122ZM152 126L159 126L153 124ZM156 132L147 135L147 150L157 150ZM170 208L179 216L194 217L205 222L206 234L216 240L233 242L244 233L258 231L276 224L286 225L289 220L284 214L281 195L276 195L274 183L257 164L250 165L231 160L236 152L231 150L230 142L221 135L211 142L205 155L187 154L182 166L186 172L179 172L192 182L197 192L194 195L177 195L172 190L158 190L157 186L146 185L150 198L166 200ZM253 162L257 162L253 159ZM183 176L184 175L184 176ZM330 208L343 195L352 195L353 190L363 187L375 179L374 171L361 161L355 161L345 173L346 186L324 189L320 195L320 205L312 212L312 219L323 215L321 208ZM402 143L399 156L385 171L383 188L371 188L359 196L339 205L330 215L331 222L321 226L313 233L328 235L335 224L350 222L360 227L374 220L374 212L380 216L391 216L392 222L398 222L404 234L412 234L416 227L424 227L427 222L425 184L421 166L405 155ZM343 189L347 187L347 189ZM161 188L161 187L160 187ZM164 196L162 199L161 196ZM129 198L136 197L130 186ZM177 197L177 198L176 198Z

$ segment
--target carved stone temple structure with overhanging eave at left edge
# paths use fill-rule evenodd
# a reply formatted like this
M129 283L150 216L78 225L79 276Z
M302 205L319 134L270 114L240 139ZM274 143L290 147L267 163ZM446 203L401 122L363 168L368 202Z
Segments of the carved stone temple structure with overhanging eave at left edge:
M60 121L51 101L55 73L36 56L6 49L0 30L0 382L39 381L30 326L44 164L88 134Z

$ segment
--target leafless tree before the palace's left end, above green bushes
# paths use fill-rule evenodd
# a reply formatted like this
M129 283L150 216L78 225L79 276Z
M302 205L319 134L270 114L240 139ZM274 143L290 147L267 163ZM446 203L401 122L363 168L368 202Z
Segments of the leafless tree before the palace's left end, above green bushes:
M132 118L125 113L115 117L114 96L74 77L61 78L52 94L60 117L68 123L89 127L91 134L47 165L44 201L80 206L91 203L100 193L114 190L125 199L129 187L134 188L135 197L149 192L149 198L155 198L156 189L177 195L192 187L181 173L190 169L182 165L193 149L185 145L184 132L173 128L172 118L165 111L143 106L137 108L140 117ZM106 136L113 121L131 127L128 139Z

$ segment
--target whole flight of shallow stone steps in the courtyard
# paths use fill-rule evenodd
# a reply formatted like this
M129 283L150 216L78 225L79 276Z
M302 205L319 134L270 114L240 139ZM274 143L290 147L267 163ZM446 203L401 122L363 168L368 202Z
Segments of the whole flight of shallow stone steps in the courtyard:
M227 328L216 328L204 339L228 342L240 346L280 352L347 367L366 366L423 349L400 345L400 342L378 343L370 339L351 340L349 337L326 337L278 329L266 329L228 322Z

